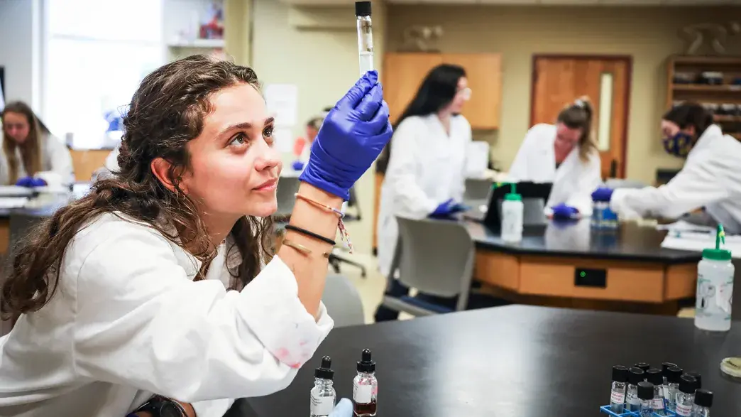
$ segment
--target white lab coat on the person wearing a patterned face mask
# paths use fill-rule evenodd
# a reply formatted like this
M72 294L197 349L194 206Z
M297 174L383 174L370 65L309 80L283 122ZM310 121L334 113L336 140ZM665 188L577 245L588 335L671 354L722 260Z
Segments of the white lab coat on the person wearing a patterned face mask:
M659 188L618 188L611 208L624 218L676 218L705 206L730 234L741 233L741 143L711 125L682 171Z

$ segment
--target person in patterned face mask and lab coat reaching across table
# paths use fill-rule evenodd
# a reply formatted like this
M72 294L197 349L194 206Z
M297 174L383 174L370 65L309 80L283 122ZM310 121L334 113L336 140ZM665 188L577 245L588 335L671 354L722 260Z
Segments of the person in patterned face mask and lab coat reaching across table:
M685 103L661 121L665 150L686 157L682 171L658 188L600 188L620 217L677 218L705 208L726 232L741 233L741 142L713 124L702 105Z

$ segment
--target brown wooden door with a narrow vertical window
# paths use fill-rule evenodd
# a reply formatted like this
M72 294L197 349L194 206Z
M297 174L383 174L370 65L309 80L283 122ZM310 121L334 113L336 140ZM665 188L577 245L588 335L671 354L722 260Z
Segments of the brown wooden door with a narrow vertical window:
M632 65L630 56L534 56L531 125L554 123L566 105L589 96L602 178L625 177Z

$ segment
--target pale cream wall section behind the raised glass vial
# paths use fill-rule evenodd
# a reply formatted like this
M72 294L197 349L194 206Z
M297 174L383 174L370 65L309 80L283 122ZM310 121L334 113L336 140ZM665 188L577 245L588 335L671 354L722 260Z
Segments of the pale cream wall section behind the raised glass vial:
M233 0L230 0L233 1ZM350 3L352 4L352 3ZM310 10L310 18L318 26L326 18L327 25L347 16L350 27L302 29L290 23L289 9L277 0L255 0L252 4L252 62L262 83L288 83L299 86L299 125L293 133L303 133L303 124L311 116L334 103L356 82L359 76L357 35L354 30L353 7ZM339 16L339 18L338 18ZM228 21L227 21L228 22ZM342 21L344 22L344 20ZM340 23L342 23L340 22ZM373 39L376 67L380 68L383 54L385 4L373 2ZM227 27L227 33L229 28ZM227 42L230 38L227 35ZM230 45L238 48L238 42ZM228 45L227 45L228 47ZM241 47L244 49L244 46ZM227 52L229 52L227 50ZM284 163L292 157L285 155ZM363 217L348 224L348 232L358 252L371 252L373 220L373 170L369 170L356 185Z

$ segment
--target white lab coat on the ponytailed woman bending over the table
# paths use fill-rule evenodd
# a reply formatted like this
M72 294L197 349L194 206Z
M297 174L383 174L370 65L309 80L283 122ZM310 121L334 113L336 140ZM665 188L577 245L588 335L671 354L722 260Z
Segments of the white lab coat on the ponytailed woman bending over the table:
M546 214L552 212L551 207L564 203L578 209L582 217L591 216L591 194L602 180L599 154L595 151L587 162L582 162L579 148L574 147L556 169L555 140L555 125L539 124L530 128L512 162L508 181L553 183L545 205Z

